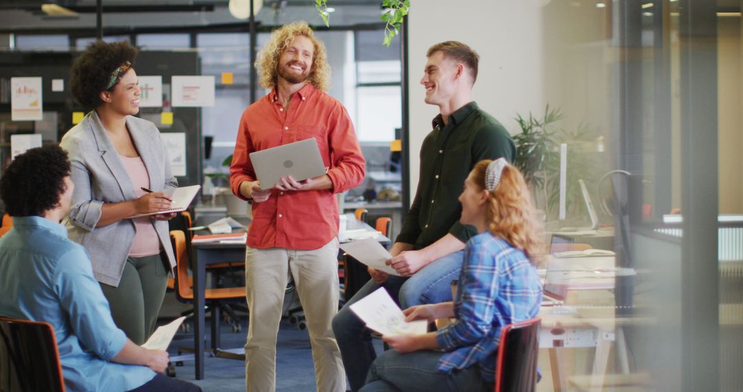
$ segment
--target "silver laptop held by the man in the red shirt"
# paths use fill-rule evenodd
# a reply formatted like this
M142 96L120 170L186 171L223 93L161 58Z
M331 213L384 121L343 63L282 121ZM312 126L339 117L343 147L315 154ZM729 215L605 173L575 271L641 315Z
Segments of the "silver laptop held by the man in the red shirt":
M302 181L325 174L317 140L314 137L283 146L250 153L262 189L271 189L281 177Z

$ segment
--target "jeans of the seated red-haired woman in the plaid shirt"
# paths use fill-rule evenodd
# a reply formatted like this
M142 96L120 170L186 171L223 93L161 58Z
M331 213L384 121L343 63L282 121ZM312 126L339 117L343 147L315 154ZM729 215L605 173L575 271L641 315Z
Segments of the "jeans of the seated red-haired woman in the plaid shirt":
M439 373L441 351L424 350L398 354L389 350L374 361L360 392L375 391L493 391L493 383L482 378L480 367Z

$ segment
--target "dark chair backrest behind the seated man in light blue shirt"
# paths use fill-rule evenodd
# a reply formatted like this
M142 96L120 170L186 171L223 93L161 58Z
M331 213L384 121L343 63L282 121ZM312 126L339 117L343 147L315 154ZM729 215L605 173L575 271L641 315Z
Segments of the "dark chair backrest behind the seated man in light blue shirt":
M0 391L65 391L51 324L0 317Z

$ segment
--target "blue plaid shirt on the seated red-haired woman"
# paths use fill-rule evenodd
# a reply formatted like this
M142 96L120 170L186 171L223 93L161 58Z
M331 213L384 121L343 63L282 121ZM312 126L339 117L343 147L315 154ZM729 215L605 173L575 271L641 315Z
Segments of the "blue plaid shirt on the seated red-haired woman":
M484 379L493 381L502 327L539 313L542 285L536 267L524 252L492 233L476 235L464 249L454 298L456 320L436 335L446 351L438 371L479 364Z

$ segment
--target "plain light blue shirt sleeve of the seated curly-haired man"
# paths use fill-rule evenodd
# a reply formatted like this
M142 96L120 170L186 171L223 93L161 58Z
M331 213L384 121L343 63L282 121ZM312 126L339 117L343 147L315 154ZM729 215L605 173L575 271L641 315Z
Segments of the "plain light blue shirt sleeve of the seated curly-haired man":
M111 318L108 301L93 277L93 267L82 246L59 258L54 289L82 347L106 360L117 356L126 344L126 335Z

